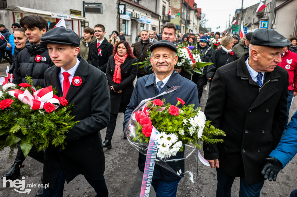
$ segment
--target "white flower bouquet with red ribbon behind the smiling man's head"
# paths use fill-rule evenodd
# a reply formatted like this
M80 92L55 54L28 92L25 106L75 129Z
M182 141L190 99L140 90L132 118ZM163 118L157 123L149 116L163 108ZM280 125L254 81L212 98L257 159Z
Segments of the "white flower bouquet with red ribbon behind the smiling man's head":
M178 69L178 67L181 67L182 70L185 72L188 72L189 74L193 75L192 71L200 73L203 75L203 67L209 64L208 62L202 62L200 58L200 54L196 49L191 51L191 49L188 48L187 42L185 42L182 45L177 46L177 53L178 56L177 64L175 65L175 68ZM143 64L139 68L149 66L149 69L152 70L152 65L150 62L151 52L148 51L148 57L144 62L139 62L135 64ZM132 65L135 65L132 64Z

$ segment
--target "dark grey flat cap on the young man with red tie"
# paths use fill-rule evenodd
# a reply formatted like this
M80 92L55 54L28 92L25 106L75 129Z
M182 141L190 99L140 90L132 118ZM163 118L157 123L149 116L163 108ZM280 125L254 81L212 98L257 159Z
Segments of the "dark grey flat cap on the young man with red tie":
M64 27L56 27L41 36L42 44L58 43L58 44L70 44L79 47L80 38L72 31Z

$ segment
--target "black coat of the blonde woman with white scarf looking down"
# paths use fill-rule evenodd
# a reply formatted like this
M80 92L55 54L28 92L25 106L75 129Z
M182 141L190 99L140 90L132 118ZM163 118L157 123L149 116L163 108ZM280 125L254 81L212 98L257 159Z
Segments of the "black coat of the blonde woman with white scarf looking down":
M224 66L225 64L228 64L235 60L236 60L235 54L233 55L230 55L230 53L227 54L227 52L224 51L224 49L222 48L214 50L210 58L210 62L212 62L213 64L208 65L206 77L207 78L210 77L212 79L219 67Z

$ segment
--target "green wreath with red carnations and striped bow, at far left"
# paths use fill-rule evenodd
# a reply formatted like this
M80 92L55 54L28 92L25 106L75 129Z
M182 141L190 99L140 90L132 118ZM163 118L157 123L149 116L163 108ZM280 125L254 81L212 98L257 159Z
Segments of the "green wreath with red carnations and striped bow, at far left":
M19 87L6 83L0 91L0 151L9 146L12 153L20 144L26 157L33 145L38 151L49 144L64 149L65 133L78 123L69 111L74 105L67 106L52 86L36 90L31 77L26 79Z

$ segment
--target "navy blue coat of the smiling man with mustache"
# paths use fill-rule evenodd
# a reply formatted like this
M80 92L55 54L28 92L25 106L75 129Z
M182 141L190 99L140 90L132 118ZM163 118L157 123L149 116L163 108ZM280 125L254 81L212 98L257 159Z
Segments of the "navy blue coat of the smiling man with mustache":
M127 121L130 119L131 113L142 100L157 96L159 93L162 93L173 86L179 86L179 88L171 93L158 97L158 99L162 100L163 98L166 98L166 103L169 102L170 104L176 105L177 103L176 98L179 97L184 100L185 105L195 104L195 106L198 107L198 91L197 91L197 85L194 82L182 77L176 71L173 71L168 82L158 93L157 88L155 87L155 76L156 76L155 73L153 73L151 75L140 77L137 80L134 91L130 99L130 104L127 106L127 109L124 115L124 122L123 122L124 127ZM175 157L176 158L184 157L184 152L182 153L179 152L176 156L171 157L170 159L173 159ZM145 160L146 160L146 157L139 153L138 167L141 172L143 172ZM169 165L173 169L177 169L177 168L181 169L182 175L184 174L184 160L180 160L178 162L171 162ZM181 177L177 176L176 174L168 171L167 169L159 165L155 165L153 179L161 179L164 181L174 181L174 180L181 179Z

